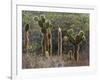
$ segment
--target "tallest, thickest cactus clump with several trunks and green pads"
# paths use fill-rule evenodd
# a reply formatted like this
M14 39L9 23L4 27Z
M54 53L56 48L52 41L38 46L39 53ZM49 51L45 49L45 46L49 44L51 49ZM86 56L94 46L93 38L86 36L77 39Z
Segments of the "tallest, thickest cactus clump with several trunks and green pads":
M42 53L46 53L47 51L49 54L52 52L52 37L51 37L51 22L45 18L44 15L40 15L40 17L35 16L34 20L38 22L38 25L41 28L42 33Z

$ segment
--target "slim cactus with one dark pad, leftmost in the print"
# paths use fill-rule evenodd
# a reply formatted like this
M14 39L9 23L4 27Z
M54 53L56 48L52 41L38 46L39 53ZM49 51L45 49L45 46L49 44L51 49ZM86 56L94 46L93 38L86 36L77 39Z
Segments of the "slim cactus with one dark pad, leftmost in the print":
M26 24L26 26L25 26L24 39L25 39L25 42L24 42L25 50L26 50L26 53L28 53L28 48L29 48L29 24Z

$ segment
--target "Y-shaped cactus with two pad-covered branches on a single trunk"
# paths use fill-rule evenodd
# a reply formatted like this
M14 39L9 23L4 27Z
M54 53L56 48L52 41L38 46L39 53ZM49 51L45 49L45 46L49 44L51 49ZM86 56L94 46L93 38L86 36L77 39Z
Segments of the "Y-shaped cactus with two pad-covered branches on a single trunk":
M85 40L85 34L83 31L80 31L78 34L75 34L72 29L67 31L68 40L72 43L75 47L74 58L76 61L79 60L79 50L80 50L80 43Z

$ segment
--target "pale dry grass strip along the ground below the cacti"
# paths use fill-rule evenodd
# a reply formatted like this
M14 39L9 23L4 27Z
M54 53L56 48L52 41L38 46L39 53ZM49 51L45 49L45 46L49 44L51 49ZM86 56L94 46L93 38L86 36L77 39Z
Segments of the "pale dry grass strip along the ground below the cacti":
M23 54L22 67L26 68L52 68L52 67L68 67L68 66L88 66L89 59L80 56L80 60L76 62L73 57L63 54L62 57L52 56L44 57L42 55Z

